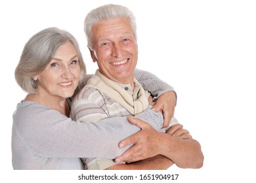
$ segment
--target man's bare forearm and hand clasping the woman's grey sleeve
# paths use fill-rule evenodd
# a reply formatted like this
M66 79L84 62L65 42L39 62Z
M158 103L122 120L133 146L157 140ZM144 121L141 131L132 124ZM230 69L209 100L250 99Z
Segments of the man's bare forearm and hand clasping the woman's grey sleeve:
M181 168L200 168L203 165L203 153L198 141L179 139L166 133L159 133L139 119L129 118L131 124L138 125L142 131L119 143L121 148L135 143L124 154L116 158L119 161L139 161L161 154Z

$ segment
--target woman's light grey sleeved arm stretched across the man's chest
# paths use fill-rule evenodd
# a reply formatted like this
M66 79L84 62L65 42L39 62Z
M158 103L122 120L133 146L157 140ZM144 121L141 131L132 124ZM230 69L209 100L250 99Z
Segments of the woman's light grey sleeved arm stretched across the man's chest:
M26 106L17 109L13 116L14 131L38 156L49 158L96 156L114 159L130 147L119 148L118 143L140 130L136 125L131 125L127 117L107 118L96 123L81 123L37 103L23 105ZM152 110L148 112L146 116L154 115L151 113Z

